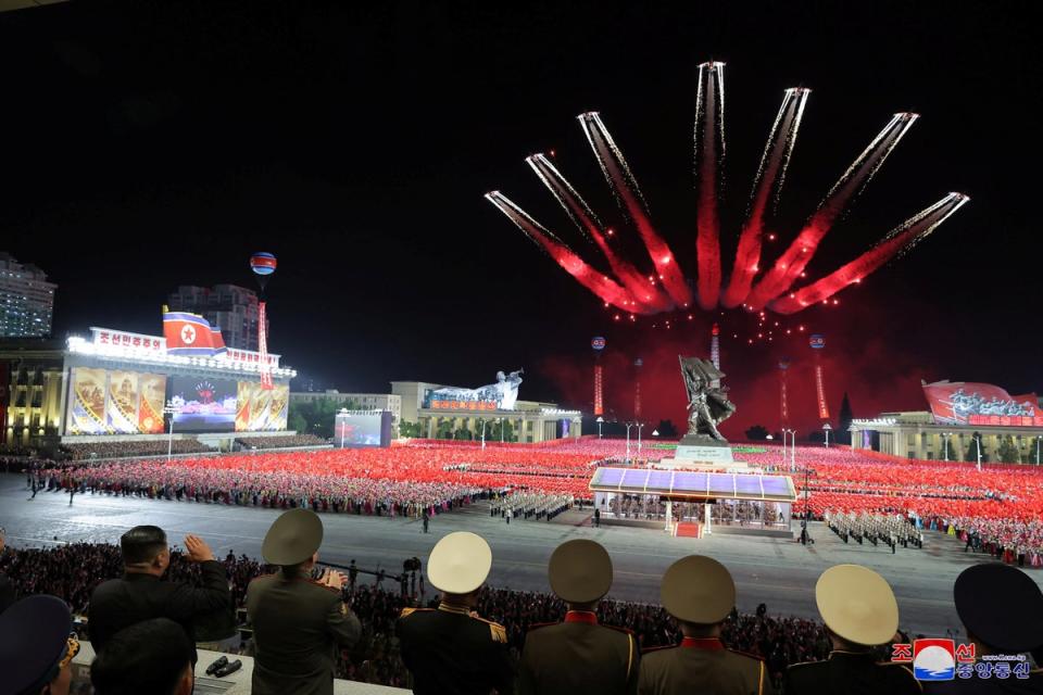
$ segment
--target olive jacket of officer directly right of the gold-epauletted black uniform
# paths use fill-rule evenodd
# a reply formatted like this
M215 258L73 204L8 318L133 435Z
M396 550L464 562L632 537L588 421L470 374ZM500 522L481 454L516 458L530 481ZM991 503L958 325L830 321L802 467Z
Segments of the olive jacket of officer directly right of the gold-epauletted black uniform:
M586 622L540 626L525 637L517 692L632 695L640 659L627 631Z

